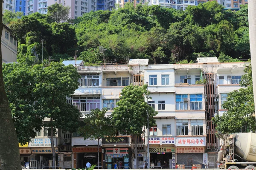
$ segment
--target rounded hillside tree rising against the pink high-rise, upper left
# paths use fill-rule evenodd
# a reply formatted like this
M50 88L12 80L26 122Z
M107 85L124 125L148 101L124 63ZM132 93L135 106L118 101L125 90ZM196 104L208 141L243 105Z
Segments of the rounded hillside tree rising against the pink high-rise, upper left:
M50 20L55 23L60 23L61 21L66 21L70 13L70 6L63 6L55 3L47 7L47 16Z

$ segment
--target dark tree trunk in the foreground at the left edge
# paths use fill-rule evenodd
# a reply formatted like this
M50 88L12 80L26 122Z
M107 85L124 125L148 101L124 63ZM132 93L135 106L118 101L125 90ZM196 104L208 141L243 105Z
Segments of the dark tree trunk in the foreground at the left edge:
M3 31L3 0L0 0L0 35ZM20 170L20 153L11 109L3 84L2 49L0 39L0 170Z

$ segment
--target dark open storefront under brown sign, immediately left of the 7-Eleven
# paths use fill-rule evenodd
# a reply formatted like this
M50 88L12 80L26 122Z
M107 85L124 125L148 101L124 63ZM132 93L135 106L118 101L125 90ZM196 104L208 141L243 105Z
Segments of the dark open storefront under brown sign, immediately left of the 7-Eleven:
M98 164L98 147L72 147L74 168L85 168L87 161L91 165ZM102 166L102 148L99 147L99 166Z

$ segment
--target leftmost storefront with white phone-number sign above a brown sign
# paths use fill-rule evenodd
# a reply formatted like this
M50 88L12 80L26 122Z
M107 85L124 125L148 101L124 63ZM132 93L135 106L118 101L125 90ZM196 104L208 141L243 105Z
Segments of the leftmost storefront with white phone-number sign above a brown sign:
M56 153L56 162L55 165L58 165L57 156L58 156L58 147L57 139L53 139ZM43 169L43 167L52 167L52 148L51 148L51 139L50 138L33 138L29 142L29 148L31 148L31 160L30 167L31 169Z

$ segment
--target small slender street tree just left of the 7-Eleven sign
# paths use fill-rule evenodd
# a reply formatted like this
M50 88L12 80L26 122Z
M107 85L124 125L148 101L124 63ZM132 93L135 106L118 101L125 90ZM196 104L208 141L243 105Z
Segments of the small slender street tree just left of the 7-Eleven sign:
M94 109L90 113L85 114L85 125L79 127L79 133L85 139L98 140L98 166L99 166L99 140L102 138L113 136L116 130L111 125L111 117L106 115L107 108L102 110Z

